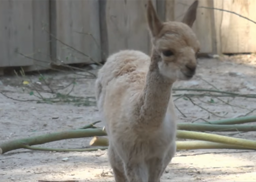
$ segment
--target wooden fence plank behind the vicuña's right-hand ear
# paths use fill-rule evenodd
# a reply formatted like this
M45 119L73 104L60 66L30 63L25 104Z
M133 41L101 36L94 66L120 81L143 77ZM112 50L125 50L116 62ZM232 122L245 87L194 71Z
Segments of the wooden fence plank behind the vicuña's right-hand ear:
M212 0L199 0L199 7L213 7ZM181 21L185 12L192 4L191 0L175 0L174 9L167 9L167 11L174 11L175 21ZM210 9L199 8L197 10L197 19L192 27L195 34L197 35L201 43L201 53L213 53L213 32L214 27L212 27L212 11ZM169 13L171 14L171 13Z

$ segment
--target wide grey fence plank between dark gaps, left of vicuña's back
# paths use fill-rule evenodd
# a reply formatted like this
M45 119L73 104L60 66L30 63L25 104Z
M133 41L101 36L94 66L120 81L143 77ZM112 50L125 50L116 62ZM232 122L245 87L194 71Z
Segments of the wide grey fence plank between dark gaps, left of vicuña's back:
M56 24L52 31L64 43L54 39L52 45L56 49L52 49L52 54L56 55L55 59L64 63L100 62L99 0L55 0L55 9L52 10L56 11L51 12L56 18L53 20Z

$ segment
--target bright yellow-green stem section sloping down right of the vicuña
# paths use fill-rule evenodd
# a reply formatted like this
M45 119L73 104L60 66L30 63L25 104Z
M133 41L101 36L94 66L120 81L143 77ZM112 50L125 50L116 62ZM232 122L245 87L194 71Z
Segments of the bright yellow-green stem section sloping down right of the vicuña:
M211 142L215 142L215 143L223 143L223 144L227 144L227 145L240 146L243 148L256 149L256 141L249 140L249 139L233 138L233 137L229 137L229 136L221 136L218 134L209 134L209 133L201 133L201 132L195 132L195 131L178 130L176 137L183 138L183 139L211 141Z

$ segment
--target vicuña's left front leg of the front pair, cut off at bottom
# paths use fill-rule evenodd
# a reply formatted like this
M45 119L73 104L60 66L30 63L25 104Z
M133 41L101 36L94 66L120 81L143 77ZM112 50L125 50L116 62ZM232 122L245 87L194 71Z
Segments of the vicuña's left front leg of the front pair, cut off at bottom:
M125 173L129 182L147 182L149 178L147 165L139 161L126 163Z

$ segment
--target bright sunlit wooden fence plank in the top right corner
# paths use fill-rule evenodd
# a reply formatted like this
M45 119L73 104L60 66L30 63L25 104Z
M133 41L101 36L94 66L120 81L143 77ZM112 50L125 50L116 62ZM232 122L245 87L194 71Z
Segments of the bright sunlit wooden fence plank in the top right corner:
M256 20L255 0L225 0L223 9ZM229 12L222 13L221 49L223 53L256 52L256 24Z

